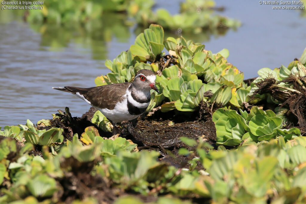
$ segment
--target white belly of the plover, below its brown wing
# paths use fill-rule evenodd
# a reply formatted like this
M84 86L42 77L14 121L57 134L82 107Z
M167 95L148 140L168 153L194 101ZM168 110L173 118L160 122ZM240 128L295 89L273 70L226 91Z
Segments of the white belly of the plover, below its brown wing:
M95 107L95 106L94 106ZM107 108L98 108L95 107L97 110L101 111L101 113L108 119L110 119L113 122L119 123L122 121L130 121L137 117L139 117L142 114L139 115L131 115L129 113L128 107L127 107L127 99L125 98L122 102L119 102L116 104L113 110L107 109Z

